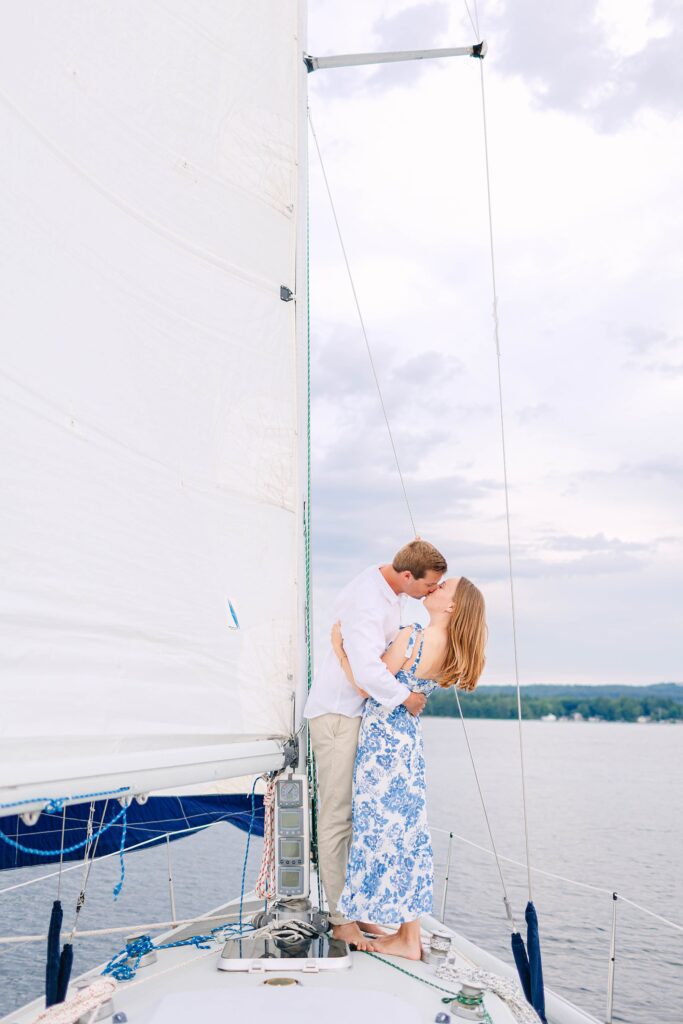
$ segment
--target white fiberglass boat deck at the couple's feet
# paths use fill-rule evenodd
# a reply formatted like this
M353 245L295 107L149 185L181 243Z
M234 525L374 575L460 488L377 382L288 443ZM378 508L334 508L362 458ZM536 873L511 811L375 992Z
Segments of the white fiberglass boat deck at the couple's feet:
M234 920L236 903L210 912L214 920L203 925L178 928L156 943L175 941L195 934L207 934L225 913ZM245 904L245 916L262 907L262 902ZM512 976L507 965L458 936L432 918L423 919L425 939L432 930L449 931L457 952L458 966L478 967L504 976ZM123 945L119 936L112 937L113 952ZM219 971L221 946L198 950L193 946L160 951L156 964L140 968L136 977L120 982L114 994L115 1013L125 1013L127 1024L194 1024L199 1020L229 1019L260 1024L303 1024L325 1021L325 1024L427 1024L436 1015L449 1010L441 1001L449 992L456 994L459 984L437 978L435 968L424 963L412 963L395 956L377 957L362 952L351 953L351 966L346 970L301 972L283 971L282 976L294 977L299 984L288 987L264 985L266 978L279 972L232 973ZM94 981L101 967L83 978ZM438 988L435 986L439 986ZM70 987L70 996L75 986ZM549 1024L597 1024L586 1014L560 996L547 992ZM487 992L484 1006L494 1024L514 1024L509 1008L497 995ZM36 999L23 1010L10 1014L5 1024L29 1024L44 1009L43 999ZM111 1018L108 1018L108 1020ZM452 1018L457 1024L458 1018Z

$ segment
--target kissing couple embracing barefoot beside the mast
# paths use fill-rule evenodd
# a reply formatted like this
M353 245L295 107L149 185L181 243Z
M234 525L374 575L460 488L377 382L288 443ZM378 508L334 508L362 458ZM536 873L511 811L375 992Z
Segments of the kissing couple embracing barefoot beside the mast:
M439 686L473 690L485 660L483 597L465 577L442 580L446 569L417 539L352 580L304 711L333 935L409 959L420 959L434 887L419 716ZM401 628L407 596L424 600L427 627Z

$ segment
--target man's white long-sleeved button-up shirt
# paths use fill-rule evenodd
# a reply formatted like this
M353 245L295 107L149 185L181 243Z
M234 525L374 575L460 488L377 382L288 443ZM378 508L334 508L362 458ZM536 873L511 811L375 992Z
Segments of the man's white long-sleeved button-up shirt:
M410 695L382 662L382 654L400 628L402 595L393 590L380 572L379 565L352 580L335 603L334 622L341 623L344 650L358 686L383 707L392 709ZM332 631L332 623L330 624ZM315 673L304 709L306 718L318 715L362 714L365 699L348 681L332 644Z

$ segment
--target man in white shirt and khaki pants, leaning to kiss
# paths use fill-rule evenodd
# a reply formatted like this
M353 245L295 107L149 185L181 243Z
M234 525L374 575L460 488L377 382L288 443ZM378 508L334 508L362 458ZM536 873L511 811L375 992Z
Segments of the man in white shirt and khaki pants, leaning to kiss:
M436 590L445 558L420 539L407 544L390 565L373 565L352 580L335 604L344 649L361 689L390 711L399 703L419 715L425 697L396 681L382 654L401 625L402 595L422 598ZM304 710L317 765L319 870L336 939L368 947L357 922L337 909L351 842L353 763L364 698L348 682L330 645Z

